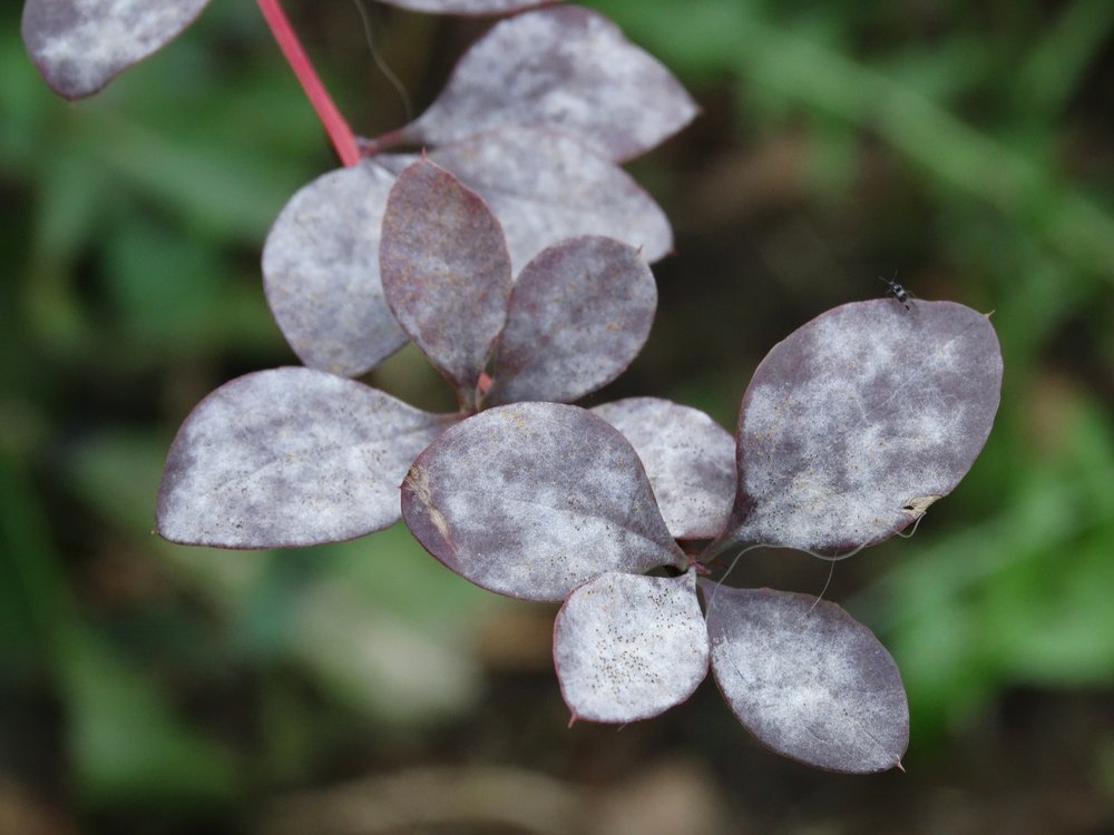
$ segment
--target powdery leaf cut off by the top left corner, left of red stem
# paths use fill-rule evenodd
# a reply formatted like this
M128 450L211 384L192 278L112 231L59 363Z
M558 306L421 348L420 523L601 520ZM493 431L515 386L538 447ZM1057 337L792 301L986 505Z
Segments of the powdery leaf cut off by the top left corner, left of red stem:
M189 26L208 0L26 0L27 51L47 84L78 99Z

